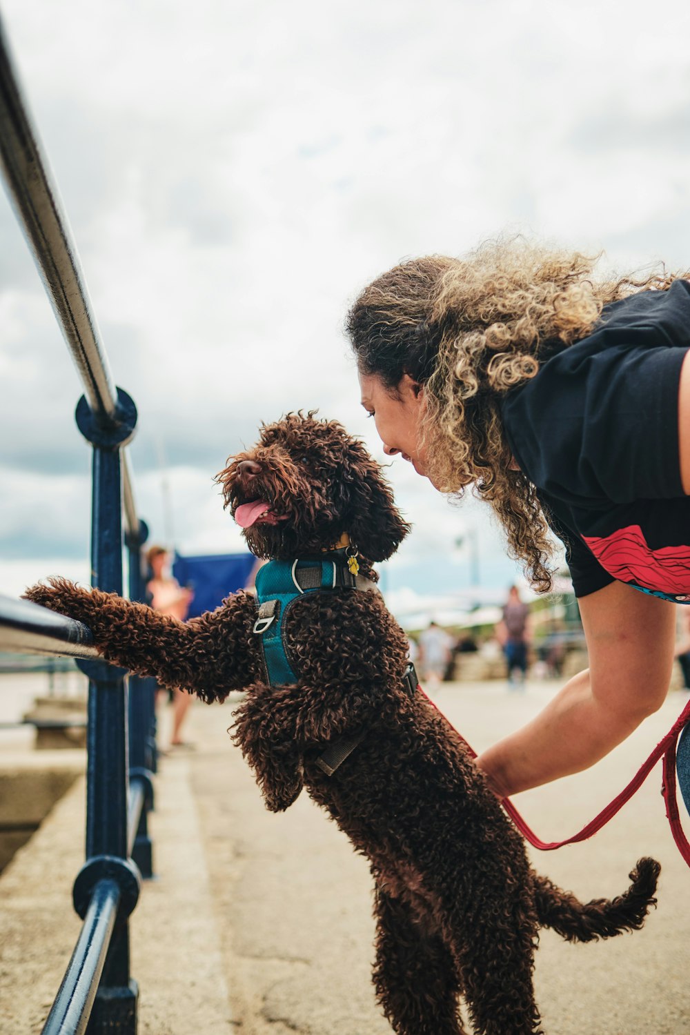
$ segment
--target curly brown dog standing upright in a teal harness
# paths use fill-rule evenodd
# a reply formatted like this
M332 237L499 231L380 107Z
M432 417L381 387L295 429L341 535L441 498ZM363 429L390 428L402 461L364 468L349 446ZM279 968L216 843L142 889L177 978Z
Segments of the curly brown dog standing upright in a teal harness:
M274 597L261 609L242 592L182 623L59 579L28 597L86 622L104 657L166 685L207 702L246 690L234 739L268 808L306 787L370 861L373 980L394 1031L458 1035L461 996L475 1032L534 1035L539 927L581 942L639 928L659 864L640 859L624 894L588 904L532 869L462 740L403 678L407 638L371 563L409 526L359 441L291 414L218 480L252 552L273 562L258 576ZM276 657L290 678L273 685Z

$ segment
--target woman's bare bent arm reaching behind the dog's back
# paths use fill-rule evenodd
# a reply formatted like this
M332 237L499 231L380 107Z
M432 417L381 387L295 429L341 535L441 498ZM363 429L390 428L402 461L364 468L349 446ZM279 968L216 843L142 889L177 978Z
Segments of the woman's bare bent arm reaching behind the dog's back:
M594 765L663 703L674 605L614 582L579 599L590 668L477 763L499 797Z

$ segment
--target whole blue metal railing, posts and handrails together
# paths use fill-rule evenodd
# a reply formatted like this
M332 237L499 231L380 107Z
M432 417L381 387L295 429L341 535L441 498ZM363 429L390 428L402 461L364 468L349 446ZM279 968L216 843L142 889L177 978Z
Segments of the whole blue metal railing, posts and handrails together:
M76 419L92 446L92 585L144 599L142 545L126 443L137 423L129 395L110 374L68 221L0 23L0 165L17 217L43 279L84 395ZM103 661L90 630L27 600L0 597L0 650L69 655L89 679L86 862L73 886L84 924L43 1027L50 1035L137 1031L139 989L129 973L128 917L153 860L147 817L155 770L154 688Z

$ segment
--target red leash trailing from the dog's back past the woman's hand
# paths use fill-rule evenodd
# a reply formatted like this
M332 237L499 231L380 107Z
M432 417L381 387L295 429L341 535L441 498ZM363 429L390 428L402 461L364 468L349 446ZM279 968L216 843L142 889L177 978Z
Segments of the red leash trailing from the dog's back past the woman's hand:
M421 690L422 693L424 693L424 690L422 690L421 686L419 687L419 689ZM429 702L429 704L437 709L439 714L443 715L448 724L452 727L452 729L455 729L450 719L448 719L443 714L441 709L436 704L433 704L433 701L431 701L431 699L426 693L424 693L424 697ZM573 834L572 837L567 837L565 840L562 841L542 841L539 839L539 837L537 837L534 831L524 822L520 814L513 805L510 798L504 798L501 803L505 808L505 810L508 812L508 816L510 816L511 820L513 821L517 829L530 841L531 845L533 845L535 848L540 849L540 851L542 852L552 852L553 849L562 848L563 845L573 845L575 841L587 840L588 837L591 837L592 834L595 834L597 830L601 830L604 824L608 823L608 821L613 816L616 816L616 814L620 811L621 808L623 808L626 801L632 798L635 791L637 791L638 788L642 786L642 783L644 782L644 780L647 779L647 777L649 776L650 772L657 764L659 759L663 758L663 776L661 781L661 793L663 794L664 801L666 802L666 818L670 825L671 833L673 835L673 840L676 841L681 855L683 856L687 864L690 866L690 842L688 842L688 839L683 831L683 827L681 826L681 818L678 811L678 798L676 794L676 745L678 744L678 738L681 736L681 733L683 732L683 728L689 721L690 721L690 701L688 701L685 708L683 709L683 711L681 712L678 719L676 720L671 729L668 731L666 736L663 738L663 740L659 741L657 746L650 755L649 759L646 762L643 762L642 765L639 767L639 769L637 770L633 778L630 780L628 786L625 787L623 791L621 791L621 793L617 795L616 798L613 798L613 800L609 802L608 805L606 805L605 808L602 808L599 815L595 816L595 818L590 823L588 823L586 827L582 827L579 833ZM455 732L457 733L457 730L455 730ZM473 748L470 746L470 744L468 744L467 740L460 733L458 733L457 735L467 745L467 748L472 758L476 759L477 752L473 750Z

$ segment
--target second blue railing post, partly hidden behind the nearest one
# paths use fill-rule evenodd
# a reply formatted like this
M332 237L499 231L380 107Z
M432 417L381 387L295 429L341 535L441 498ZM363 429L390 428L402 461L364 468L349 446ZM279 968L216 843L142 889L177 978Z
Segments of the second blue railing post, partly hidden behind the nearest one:
M142 545L149 530L139 523L139 532L125 535L128 553L129 599L144 600L146 582L142 570ZM141 786L143 804L131 857L142 877L153 877L153 848L148 830L148 814L153 808L153 766L155 760L155 681L141 676L129 677L129 783Z

